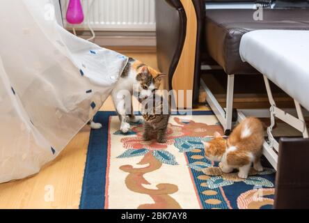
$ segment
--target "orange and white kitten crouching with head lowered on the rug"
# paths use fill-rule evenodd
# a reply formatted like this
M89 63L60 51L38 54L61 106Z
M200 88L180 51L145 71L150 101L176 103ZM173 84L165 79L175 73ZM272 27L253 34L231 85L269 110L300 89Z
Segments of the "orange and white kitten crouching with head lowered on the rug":
M239 178L247 178L253 168L263 171L260 157L264 142L264 128L258 118L245 118L232 131L228 139L224 139L219 132L214 133L212 141L203 141L205 156L212 161L221 162L221 170L230 173L239 169Z

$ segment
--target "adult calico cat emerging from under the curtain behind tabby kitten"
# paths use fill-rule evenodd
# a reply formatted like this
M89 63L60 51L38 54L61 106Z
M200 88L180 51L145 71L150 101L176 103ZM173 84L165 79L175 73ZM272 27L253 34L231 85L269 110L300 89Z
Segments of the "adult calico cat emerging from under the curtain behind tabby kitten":
M139 118L134 116L132 101L131 106L125 106L126 100L131 100L131 95L136 95L140 99L148 98L152 95L161 84L161 80L165 74L150 68L149 66L129 57L120 79L116 83L111 97L120 119L120 130L123 133L129 131L130 124L139 121ZM102 128L100 123L90 121L91 128Z

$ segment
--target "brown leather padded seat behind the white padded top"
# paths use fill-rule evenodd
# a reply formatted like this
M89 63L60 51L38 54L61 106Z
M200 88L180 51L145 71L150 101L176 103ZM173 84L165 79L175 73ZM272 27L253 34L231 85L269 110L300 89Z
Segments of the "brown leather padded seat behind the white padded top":
M207 52L228 75L257 73L241 61L241 37L258 29L309 29L308 9L264 9L263 20L253 20L255 10L207 10L205 17L205 45Z

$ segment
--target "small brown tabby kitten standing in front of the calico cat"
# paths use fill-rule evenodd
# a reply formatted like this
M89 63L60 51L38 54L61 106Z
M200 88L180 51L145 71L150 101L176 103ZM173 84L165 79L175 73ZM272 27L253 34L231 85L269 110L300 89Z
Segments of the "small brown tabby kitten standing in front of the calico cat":
M168 102L158 94L140 100L140 102L142 103L141 113L145 121L143 139L149 141L154 134L157 134L157 141L165 143L168 118L171 116L171 107Z

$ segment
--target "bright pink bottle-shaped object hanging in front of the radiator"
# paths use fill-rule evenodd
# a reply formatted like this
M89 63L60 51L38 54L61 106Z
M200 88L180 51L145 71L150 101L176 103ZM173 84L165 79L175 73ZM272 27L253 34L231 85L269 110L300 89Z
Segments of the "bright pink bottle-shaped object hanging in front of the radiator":
M66 19L70 24L81 24L84 21L84 13L80 0L70 0Z

